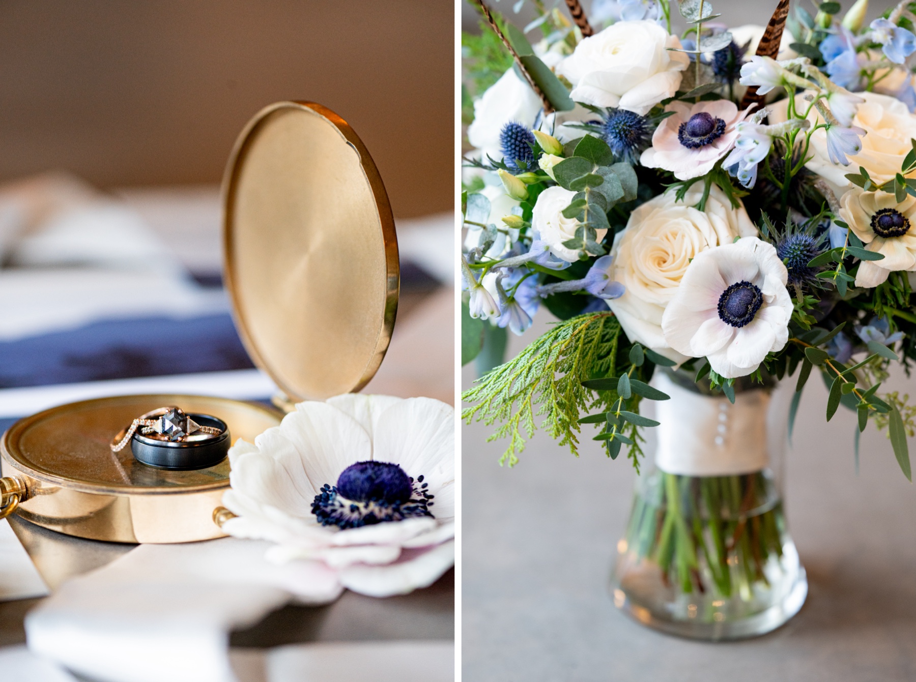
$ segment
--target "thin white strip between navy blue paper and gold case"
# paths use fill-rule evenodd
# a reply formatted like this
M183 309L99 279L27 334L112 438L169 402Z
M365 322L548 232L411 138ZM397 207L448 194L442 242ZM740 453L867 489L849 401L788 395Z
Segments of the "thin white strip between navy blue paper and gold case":
M277 385L260 370L226 370L111 379L80 384L55 384L0 389L0 417L26 417L49 407L109 395L218 395L235 400L258 400L277 393Z

